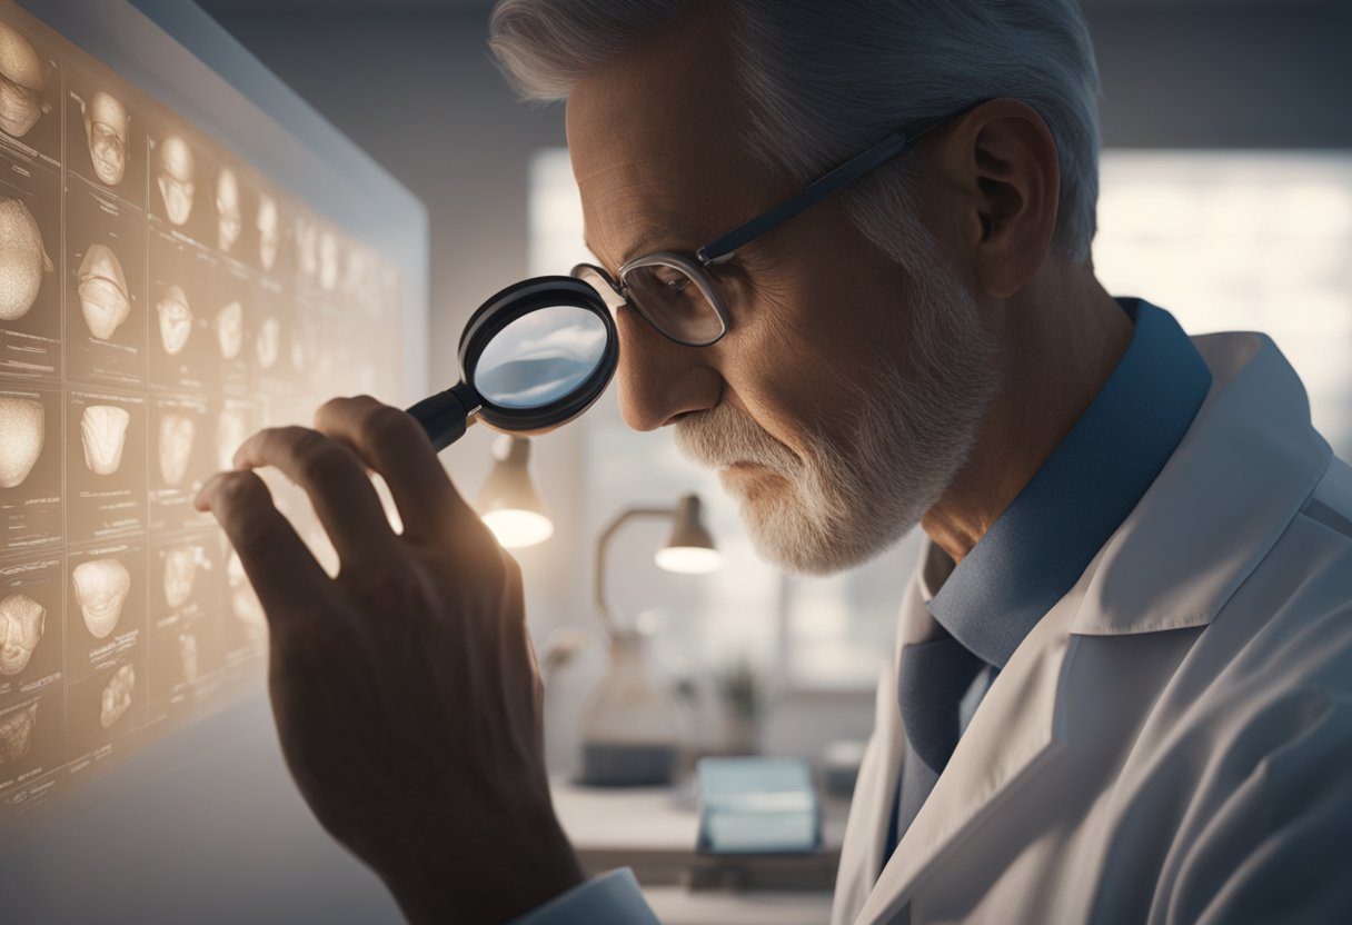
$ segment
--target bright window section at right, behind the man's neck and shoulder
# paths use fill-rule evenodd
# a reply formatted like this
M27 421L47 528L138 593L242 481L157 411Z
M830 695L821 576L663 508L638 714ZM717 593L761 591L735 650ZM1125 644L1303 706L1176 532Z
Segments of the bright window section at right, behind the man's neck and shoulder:
M1190 334L1271 335L1352 452L1352 154L1106 153L1094 262Z

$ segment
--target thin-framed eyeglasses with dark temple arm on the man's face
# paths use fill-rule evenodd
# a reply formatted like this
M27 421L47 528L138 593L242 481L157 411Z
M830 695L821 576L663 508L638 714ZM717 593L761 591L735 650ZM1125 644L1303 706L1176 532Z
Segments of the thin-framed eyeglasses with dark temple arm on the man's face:
M660 250L626 262L619 268L618 279L594 264L579 264L572 276L595 288L612 311L627 304L669 341L696 348L717 343L727 334L731 319L714 285L711 268L726 264L738 249L909 150L926 133L976 105L979 103L903 127L818 177L794 196L708 242L694 256Z

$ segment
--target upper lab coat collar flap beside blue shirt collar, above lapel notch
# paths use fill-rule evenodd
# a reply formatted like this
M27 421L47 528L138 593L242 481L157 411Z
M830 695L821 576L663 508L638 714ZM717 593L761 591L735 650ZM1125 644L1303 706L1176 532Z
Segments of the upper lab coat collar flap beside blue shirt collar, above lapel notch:
M1329 445L1264 334L1192 341L1213 385L1179 449L1103 546L1072 633L1205 626L1324 476Z

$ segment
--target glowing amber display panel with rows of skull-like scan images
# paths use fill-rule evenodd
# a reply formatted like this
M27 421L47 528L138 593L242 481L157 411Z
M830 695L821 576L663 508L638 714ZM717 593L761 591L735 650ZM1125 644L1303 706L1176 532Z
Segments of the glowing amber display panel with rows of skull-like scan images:
M192 499L260 426L397 399L400 312L391 261L0 0L0 815L260 688Z

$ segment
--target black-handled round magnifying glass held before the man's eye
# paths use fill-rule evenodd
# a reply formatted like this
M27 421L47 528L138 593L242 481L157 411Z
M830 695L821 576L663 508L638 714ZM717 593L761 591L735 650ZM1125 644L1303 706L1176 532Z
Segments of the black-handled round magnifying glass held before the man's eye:
M589 408L617 365L615 319L600 293L571 276L537 276L479 307L460 335L460 381L408 414L437 450L476 419L510 433L549 430Z

